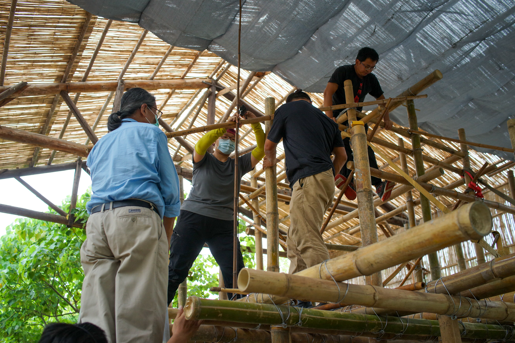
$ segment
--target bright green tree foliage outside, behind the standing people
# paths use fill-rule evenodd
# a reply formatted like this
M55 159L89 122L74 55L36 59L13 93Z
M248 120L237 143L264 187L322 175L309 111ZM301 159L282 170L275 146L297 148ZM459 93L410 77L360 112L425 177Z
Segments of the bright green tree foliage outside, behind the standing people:
M77 202L74 213L79 223L88 220L85 205L89 200L87 192ZM68 211L69 197L61 207ZM244 230L240 222L239 232ZM255 250L253 237L239 236L242 245ZM28 218L16 219L6 228L0 238L1 341L37 341L47 323L77 321L84 277L80 246L85 238L83 229ZM244 253L247 267L254 267L253 257ZM209 287L218 285L214 258L200 255L187 280L188 295L215 297L209 292Z

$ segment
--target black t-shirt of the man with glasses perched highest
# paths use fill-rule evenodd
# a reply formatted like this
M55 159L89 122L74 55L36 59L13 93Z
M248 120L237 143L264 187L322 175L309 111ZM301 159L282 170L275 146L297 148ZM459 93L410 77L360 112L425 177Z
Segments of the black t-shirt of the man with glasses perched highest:
M333 105L341 105L347 103L345 101L345 89L344 82L345 80L352 81L352 90L354 91L354 102L363 102L365 101L365 96L370 94L374 98L379 98L383 95L383 89L381 89L381 85L377 78L372 73L365 76L363 79L359 78L356 74L356 69L354 69L354 64L342 65L341 67L336 68L329 82L337 83L338 89L333 94ZM361 111L363 107L358 107L357 110ZM333 116L337 117L338 114L343 111L334 110Z

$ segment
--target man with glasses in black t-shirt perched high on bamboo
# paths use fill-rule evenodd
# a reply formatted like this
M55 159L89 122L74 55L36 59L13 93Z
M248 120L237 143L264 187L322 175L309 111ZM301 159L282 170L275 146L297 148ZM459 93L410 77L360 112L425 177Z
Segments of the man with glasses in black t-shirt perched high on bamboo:
M323 92L324 107L346 103L344 89L344 82L346 80L352 81L354 102L363 102L367 94L370 94L376 100L384 99L385 96L383 94L383 89L381 89L381 85L379 84L379 81L377 81L375 75L372 74L372 70L375 69L375 64L377 61L379 61L379 55L377 52L372 48L364 47L358 51L355 64L343 65L336 68L327 86L325 87L325 91ZM361 111L362 108L363 107L358 107L356 110ZM342 111L343 109L325 111L325 114L329 118L336 120ZM384 123L385 129L390 130L392 127L392 122L388 112L386 112L384 115ZM342 124L347 126L349 125L348 121L345 121ZM365 132L367 132L367 130L368 125L365 124ZM348 160L353 161L354 158L352 156L352 150L350 147L350 139L345 138L344 143ZM368 147L368 161L370 168L378 169L377 161L375 160L375 154L370 147ZM350 170L347 169L347 166L344 166L344 168L341 169L340 174L348 177ZM371 180L372 185L375 186L377 195L381 197L382 201L387 201L395 184L391 181L383 182L380 178L374 176L371 177ZM353 187L353 185L351 187Z

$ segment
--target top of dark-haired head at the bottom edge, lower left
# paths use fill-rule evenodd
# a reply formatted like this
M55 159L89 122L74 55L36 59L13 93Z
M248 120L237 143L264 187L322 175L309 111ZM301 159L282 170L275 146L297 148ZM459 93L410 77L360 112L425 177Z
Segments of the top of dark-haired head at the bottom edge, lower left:
M92 323L48 324L38 343L107 343L104 330Z

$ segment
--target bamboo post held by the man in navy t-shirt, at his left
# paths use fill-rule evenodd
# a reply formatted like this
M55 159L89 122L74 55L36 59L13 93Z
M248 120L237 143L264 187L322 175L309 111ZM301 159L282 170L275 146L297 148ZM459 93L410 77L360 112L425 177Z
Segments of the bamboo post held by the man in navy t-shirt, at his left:
M276 107L275 98L265 99L265 116L273 114ZM265 130L268 135L273 120L265 121ZM266 185L266 255L269 272L279 272L279 210L277 205L277 166L265 169Z

